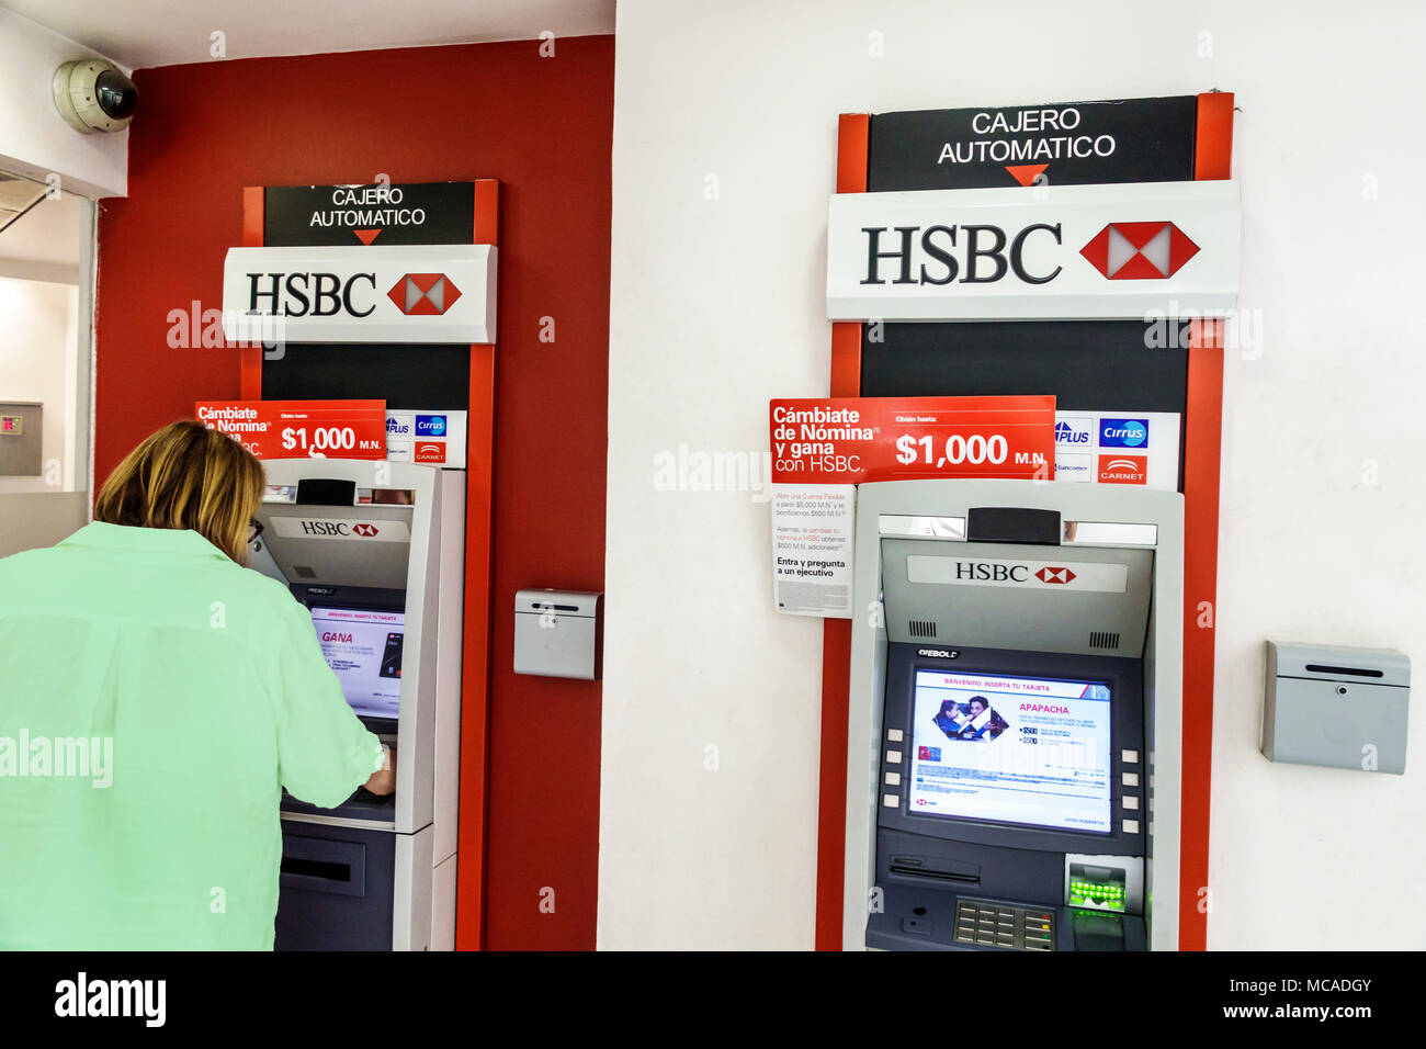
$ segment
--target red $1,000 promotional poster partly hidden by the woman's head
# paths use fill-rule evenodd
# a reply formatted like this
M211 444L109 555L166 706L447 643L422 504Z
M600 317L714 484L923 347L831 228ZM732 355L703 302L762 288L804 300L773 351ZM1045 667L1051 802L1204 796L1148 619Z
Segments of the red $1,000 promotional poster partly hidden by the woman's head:
M385 401L198 401L194 414L260 460L386 458Z

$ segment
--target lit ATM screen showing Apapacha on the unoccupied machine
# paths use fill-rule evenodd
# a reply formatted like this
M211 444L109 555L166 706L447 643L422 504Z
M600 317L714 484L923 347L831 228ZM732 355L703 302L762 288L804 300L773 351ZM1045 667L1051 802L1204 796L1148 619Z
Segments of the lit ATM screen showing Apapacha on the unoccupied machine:
M911 815L1108 833L1109 686L918 669Z

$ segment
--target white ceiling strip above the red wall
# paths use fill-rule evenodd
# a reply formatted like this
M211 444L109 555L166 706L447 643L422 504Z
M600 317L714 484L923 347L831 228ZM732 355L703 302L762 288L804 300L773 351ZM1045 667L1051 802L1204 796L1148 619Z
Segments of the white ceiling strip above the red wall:
M615 31L615 0L3 0L121 66ZM558 54L556 40L556 54Z

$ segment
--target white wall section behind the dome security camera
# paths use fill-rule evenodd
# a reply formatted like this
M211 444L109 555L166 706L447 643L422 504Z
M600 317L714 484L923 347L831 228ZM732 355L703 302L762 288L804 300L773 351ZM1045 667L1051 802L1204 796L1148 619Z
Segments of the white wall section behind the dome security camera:
M0 167L44 178L83 197L123 197L128 131L81 134L54 108L50 78L60 63L93 56L46 27L0 9Z

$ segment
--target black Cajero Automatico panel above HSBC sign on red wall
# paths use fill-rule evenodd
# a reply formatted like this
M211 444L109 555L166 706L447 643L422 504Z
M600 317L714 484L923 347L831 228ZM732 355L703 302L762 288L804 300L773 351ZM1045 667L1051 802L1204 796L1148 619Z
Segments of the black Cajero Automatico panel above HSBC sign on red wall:
M264 247L469 244L473 183L274 186L264 191Z

